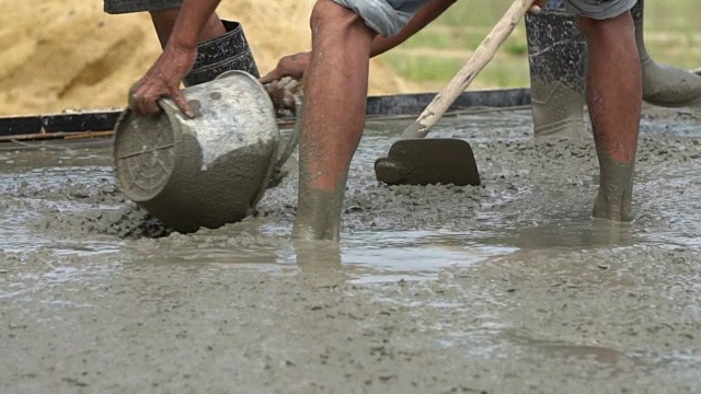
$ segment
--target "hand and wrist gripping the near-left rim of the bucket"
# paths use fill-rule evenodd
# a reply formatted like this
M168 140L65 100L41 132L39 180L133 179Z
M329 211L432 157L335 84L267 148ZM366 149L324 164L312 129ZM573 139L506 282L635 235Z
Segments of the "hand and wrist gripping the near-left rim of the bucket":
M197 49L166 46L156 63L129 89L129 107L137 114L157 115L161 112L158 100L168 96L185 116L195 112L180 91L180 83L197 58Z

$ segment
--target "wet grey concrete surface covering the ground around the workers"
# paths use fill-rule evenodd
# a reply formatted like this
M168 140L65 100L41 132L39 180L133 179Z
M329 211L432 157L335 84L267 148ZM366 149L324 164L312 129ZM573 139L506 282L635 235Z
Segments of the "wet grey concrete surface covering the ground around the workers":
M107 147L0 150L0 392L701 390L698 115L646 108L625 225L590 219L591 141L531 140L528 111L432 132L482 186L379 185L406 121L368 125L338 248L290 241L294 171L185 235Z

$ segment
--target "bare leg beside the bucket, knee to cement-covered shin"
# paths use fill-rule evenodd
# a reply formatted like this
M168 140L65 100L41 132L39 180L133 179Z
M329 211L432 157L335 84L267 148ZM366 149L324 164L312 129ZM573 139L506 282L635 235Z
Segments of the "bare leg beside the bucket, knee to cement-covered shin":
M331 0L317 1L311 30L292 235L337 241L348 166L365 126L370 46L377 34Z

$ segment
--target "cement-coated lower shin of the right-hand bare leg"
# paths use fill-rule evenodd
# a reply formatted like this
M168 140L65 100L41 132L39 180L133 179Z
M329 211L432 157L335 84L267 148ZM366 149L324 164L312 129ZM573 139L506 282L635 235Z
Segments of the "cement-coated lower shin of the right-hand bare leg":
M630 163L619 163L607 153L599 157L599 192L594 200L591 216L619 222L633 220L631 201L633 199L633 175L635 159Z

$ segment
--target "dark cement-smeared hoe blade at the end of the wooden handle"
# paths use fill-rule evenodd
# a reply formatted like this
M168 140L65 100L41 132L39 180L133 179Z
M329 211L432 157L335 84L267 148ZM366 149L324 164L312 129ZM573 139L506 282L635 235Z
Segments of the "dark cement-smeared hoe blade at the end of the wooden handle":
M375 162L377 179L388 185L478 186L480 173L470 143L460 139L405 139Z

